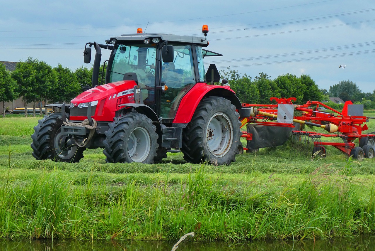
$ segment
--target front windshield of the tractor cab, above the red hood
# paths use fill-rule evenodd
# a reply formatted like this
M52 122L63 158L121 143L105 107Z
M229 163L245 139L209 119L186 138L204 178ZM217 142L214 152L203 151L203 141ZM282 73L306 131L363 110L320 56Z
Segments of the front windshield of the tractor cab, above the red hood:
M134 79L138 84L154 86L156 47L150 44L117 44L109 70L109 82Z

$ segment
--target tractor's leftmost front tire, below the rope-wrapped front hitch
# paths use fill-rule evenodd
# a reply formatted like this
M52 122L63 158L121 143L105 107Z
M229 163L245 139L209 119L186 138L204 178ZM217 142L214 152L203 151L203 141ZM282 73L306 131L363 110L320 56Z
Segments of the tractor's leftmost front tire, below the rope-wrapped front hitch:
M69 114L67 114L69 118ZM37 160L51 159L55 162L79 162L83 158L83 151L86 147L61 147L61 141L66 141L66 137L61 133L63 124L62 114L53 113L44 116L38 121L38 125L34 126L34 133L31 135L33 143L33 156ZM61 149L60 149L61 148Z

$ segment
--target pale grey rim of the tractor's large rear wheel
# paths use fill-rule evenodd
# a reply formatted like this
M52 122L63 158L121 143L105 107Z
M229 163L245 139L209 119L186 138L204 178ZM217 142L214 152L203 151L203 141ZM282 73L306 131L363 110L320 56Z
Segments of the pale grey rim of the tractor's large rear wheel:
M208 150L216 156L222 157L228 153L233 140L233 127L225 113L215 113L208 120L206 128L206 142Z

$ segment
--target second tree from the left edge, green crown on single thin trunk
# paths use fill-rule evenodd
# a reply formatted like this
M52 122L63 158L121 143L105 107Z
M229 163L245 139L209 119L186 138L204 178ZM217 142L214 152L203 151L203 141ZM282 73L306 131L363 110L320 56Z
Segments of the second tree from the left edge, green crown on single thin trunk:
M17 82L18 97L22 96L25 107L25 117L27 117L27 103L34 101L38 95L36 86L36 70L30 64L31 57L28 61L19 62L12 72L12 78Z

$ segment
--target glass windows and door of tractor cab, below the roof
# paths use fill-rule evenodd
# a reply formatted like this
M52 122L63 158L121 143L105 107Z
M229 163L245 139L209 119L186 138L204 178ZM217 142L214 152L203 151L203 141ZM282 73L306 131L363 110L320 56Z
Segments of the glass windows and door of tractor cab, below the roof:
M162 37L159 35L158 39ZM134 80L141 87L142 103L151 107L159 118L172 119L183 95L206 79L200 46L168 42L171 62L163 60L163 46L166 45L118 41L108 64L106 82Z

